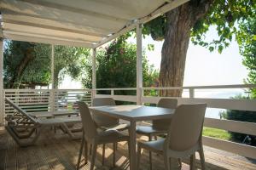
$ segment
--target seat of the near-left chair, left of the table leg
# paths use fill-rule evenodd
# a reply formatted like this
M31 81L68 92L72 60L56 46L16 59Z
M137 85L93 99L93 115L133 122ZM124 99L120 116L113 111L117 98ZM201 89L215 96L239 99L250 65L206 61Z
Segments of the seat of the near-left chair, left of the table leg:
M119 141L128 141L129 136L119 133L117 130L109 129L99 133L98 144L116 143Z

